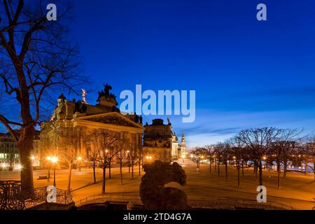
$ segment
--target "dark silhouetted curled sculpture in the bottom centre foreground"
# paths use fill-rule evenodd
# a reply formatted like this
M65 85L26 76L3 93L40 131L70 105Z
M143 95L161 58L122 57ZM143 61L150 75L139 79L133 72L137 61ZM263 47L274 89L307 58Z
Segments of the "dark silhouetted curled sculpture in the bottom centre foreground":
M190 209L187 196L178 188L165 188L165 184L177 182L186 184L186 174L181 166L174 162L156 160L150 165L144 165L146 174L141 179L140 197L144 207L149 210L183 210Z

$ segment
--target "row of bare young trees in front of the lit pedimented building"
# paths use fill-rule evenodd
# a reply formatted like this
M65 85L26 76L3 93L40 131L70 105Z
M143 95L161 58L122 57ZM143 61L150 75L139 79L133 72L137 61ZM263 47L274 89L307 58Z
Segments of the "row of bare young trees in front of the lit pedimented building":
M124 133L111 132L108 130L94 130L87 136L87 143L90 144L90 151L87 158L80 158L76 151L76 143L80 138L79 135L73 134L73 137L68 137L67 150L60 155L60 162L66 165L69 169L68 190L71 186L71 170L73 165L78 165L78 162L85 163L93 169L93 180L97 183L96 169L102 169L102 193L105 193L106 188L106 170L109 170L109 179L111 179L111 167L113 164L120 168L120 184L123 185L123 167L128 166L131 178L134 179L134 167L138 165L139 175L141 175L141 162L143 153L141 148L134 148L132 142Z

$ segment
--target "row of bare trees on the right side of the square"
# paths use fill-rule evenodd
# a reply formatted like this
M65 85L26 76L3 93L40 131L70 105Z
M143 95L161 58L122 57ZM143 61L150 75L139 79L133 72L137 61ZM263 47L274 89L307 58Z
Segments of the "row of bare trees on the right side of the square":
M262 127L241 130L239 134L225 142L196 148L197 157L205 156L220 176L220 164L225 166L225 178L228 179L228 165L237 169L237 186L240 186L240 173L244 176L244 168L253 167L256 179L262 185L263 162L265 165L276 164L278 188L280 188L281 167L283 178L289 165L304 164L305 174L311 169L315 181L315 137L299 138L300 132L292 129ZM267 166L265 166L267 168Z

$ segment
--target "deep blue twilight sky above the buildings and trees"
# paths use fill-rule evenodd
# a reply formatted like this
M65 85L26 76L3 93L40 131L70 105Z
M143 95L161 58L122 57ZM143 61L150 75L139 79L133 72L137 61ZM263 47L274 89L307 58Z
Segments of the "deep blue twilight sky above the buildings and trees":
M53 1L52 1L53 2ZM256 20L258 3L267 21ZM196 90L189 146L248 127L315 130L315 1L73 1L86 89ZM87 100L94 104L96 92ZM160 116L155 116L160 117ZM145 121L151 118L145 118Z

